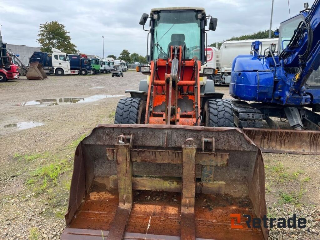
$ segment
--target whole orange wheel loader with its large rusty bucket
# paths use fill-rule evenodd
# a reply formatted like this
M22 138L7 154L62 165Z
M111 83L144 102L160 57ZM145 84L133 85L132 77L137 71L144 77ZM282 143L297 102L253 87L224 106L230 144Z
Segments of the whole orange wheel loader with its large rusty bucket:
M142 15L150 64L137 71L149 80L78 145L62 240L268 238L246 223L266 215L260 149L239 129L204 126L222 101L206 80L208 18L203 8Z

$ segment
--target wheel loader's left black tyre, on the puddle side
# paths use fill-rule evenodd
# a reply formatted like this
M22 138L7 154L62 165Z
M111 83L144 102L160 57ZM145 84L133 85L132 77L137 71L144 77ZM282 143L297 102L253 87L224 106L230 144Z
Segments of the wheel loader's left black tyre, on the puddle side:
M115 114L115 124L144 124L146 102L140 98L120 99Z

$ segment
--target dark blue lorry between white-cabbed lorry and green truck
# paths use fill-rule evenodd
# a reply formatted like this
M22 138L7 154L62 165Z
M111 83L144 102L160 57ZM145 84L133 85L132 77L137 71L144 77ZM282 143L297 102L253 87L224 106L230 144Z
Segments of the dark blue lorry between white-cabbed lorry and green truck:
M91 60L79 54L69 54L71 74L87 75L92 73Z

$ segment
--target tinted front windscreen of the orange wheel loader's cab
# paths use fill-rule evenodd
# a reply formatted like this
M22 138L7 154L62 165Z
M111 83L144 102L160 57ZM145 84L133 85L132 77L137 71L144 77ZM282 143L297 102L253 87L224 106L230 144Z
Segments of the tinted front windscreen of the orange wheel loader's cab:
M155 20L153 59L165 59L170 46L186 46L186 59L200 59L201 20L194 11L162 11Z

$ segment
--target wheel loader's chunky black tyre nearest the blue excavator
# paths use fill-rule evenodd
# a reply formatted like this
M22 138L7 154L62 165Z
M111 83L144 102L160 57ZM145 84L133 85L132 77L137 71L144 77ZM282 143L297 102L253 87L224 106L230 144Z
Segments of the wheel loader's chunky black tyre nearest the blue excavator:
M204 124L207 127L234 127L231 103L224 99L207 100L204 105Z

